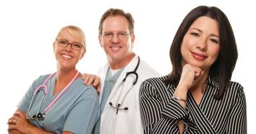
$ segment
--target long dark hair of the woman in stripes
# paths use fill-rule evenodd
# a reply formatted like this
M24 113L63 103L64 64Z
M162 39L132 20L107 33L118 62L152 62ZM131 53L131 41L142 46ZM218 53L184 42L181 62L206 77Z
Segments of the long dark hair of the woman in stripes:
M226 86L232 76L234 66L237 62L237 44L234 39L232 27L226 15L218 7L199 6L192 9L183 19L177 33L173 38L170 48L170 59L173 65L171 74L165 82L178 84L182 72L181 44L189 27L198 17L207 16L218 21L218 30L220 32L220 52L218 58L210 68L210 76L216 78L220 90L215 94L216 99L222 98Z

